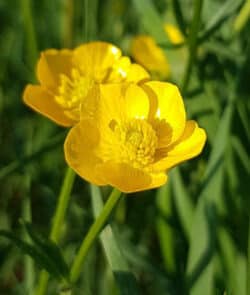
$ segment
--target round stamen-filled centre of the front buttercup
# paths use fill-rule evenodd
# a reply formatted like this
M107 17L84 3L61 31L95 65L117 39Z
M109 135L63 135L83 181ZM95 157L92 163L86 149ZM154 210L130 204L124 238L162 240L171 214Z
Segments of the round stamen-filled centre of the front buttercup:
M135 168L143 168L154 161L158 139L147 121L132 119L124 124L111 121L110 128L118 141L116 156L119 161Z

